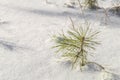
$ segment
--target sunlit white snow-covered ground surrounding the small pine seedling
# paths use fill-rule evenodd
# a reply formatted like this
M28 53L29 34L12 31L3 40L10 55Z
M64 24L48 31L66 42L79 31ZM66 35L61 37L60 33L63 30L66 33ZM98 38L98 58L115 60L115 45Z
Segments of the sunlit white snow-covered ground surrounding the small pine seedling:
M50 0L49 0L50 1ZM113 0L114 1L114 0ZM110 7L112 0L100 1ZM79 9L64 7L64 0L0 0L0 80L101 80L100 72L71 70L55 61L49 34L67 30L69 16L83 22ZM120 17L85 10L85 17L101 31L93 61L120 75ZM119 79L118 79L119 80Z

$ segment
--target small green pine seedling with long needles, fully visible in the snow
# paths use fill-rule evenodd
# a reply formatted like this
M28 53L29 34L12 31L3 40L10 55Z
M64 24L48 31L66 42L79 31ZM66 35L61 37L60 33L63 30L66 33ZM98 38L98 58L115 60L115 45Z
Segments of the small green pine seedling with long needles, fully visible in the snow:
M53 36L53 48L57 48L57 52L62 52L61 56L69 60L73 68L81 68L90 63L87 59L90 50L95 50L95 46L100 44L96 40L98 33L99 31L90 28L90 24L75 27L72 22L72 28L66 34L63 32Z

